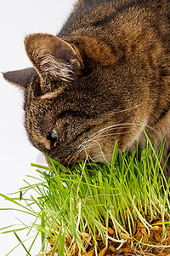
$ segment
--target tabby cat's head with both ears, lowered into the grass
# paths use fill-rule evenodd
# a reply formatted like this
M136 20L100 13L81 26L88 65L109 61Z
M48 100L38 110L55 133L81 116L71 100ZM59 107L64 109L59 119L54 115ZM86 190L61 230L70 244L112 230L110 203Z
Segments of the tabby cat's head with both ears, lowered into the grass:
M145 92L108 46L40 33L25 46L33 67L3 76L25 90L25 126L35 147L67 165L87 156L111 162L117 140L119 151L133 145L142 131L139 119L146 119Z

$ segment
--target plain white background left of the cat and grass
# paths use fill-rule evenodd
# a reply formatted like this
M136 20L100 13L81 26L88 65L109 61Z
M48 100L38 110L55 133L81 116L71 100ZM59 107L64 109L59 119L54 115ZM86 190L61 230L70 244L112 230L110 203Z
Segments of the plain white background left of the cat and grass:
M31 67L25 49L24 39L34 32L56 34L63 25L76 0L5 0L0 3L0 72ZM36 175L31 162L42 163L43 156L31 146L24 129L23 93L8 84L0 74L0 193L18 191L26 184L26 175ZM14 207L0 197L0 208ZM30 224L31 219L20 212L0 211L0 228L17 224L22 219ZM24 236L18 233L20 238ZM0 256L18 244L14 234L0 234ZM26 243L27 245L27 243ZM37 241L31 256L38 253ZM10 255L24 256L20 246Z

